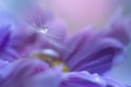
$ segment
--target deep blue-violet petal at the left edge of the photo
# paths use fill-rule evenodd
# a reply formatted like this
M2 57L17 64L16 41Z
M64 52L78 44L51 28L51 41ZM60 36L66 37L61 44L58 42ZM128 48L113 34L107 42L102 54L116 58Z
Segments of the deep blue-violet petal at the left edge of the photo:
M5 61L13 61L17 59L17 52L9 47L11 41L11 28L10 26L4 26L0 28L0 59Z

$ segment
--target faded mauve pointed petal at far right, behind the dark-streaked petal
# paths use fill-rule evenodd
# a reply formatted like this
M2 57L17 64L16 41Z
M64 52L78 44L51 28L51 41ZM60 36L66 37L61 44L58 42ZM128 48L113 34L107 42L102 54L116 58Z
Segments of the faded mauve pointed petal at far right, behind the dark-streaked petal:
M119 40L124 46L128 46L131 41L131 28L128 25L128 20L122 15L122 12L121 7L116 10L100 35L102 37L111 37Z

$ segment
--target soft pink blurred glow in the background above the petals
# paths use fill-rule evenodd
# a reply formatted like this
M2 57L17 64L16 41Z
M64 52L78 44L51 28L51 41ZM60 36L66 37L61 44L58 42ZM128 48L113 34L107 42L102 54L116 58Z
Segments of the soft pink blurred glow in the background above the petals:
M53 11L64 18L70 30L105 24L114 13L116 0L52 0Z

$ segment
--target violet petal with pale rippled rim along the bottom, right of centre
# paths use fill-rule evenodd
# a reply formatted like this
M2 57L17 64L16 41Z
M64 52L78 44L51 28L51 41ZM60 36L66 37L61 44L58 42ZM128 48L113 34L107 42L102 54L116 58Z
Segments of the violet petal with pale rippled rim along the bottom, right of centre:
M109 80L111 83L109 83ZM87 72L69 73L62 80L60 87L126 87L112 79L106 79L97 74Z

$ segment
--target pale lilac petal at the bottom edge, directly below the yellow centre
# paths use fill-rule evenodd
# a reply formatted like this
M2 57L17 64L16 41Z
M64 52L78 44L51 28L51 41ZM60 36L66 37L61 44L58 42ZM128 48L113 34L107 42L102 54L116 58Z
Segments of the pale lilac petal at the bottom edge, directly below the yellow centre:
M26 85L27 87L59 87L61 80L62 72L57 67L35 75Z

